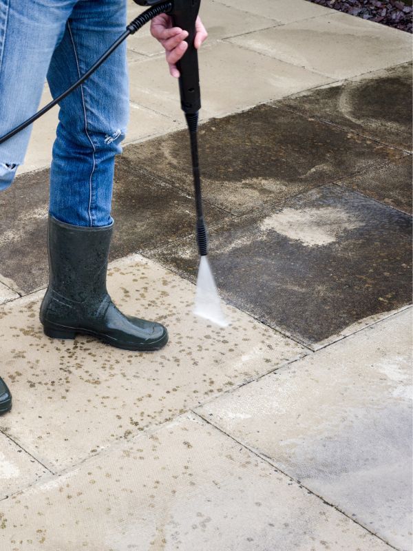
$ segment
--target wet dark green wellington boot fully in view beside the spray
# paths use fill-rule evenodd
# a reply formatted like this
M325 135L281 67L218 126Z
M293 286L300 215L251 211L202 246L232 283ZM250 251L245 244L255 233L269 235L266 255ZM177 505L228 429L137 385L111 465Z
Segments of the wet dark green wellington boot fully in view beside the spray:
M159 350L168 342L167 329L124 315L107 293L112 229L72 226L49 216L50 280L40 309L43 330L59 339L83 333L120 349Z

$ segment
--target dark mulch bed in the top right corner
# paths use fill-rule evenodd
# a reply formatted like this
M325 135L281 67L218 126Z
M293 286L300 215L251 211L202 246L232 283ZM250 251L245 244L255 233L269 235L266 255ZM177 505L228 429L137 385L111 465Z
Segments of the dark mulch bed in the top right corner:
M412 32L412 1L399 0L309 0L320 6L334 8L340 12L357 15L383 25Z

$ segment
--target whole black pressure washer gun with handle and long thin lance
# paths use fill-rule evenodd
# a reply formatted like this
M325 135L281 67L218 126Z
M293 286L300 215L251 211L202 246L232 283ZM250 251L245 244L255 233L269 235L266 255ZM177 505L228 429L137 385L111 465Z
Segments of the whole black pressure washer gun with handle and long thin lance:
M140 6L158 6L162 0L134 0ZM176 64L179 72L179 90L182 111L187 119L191 139L191 157L193 185L195 188L196 236L200 256L207 256L208 236L202 208L200 167L198 160L198 112L201 108L200 74L198 69L198 51L195 48L195 21L200 10L200 0L173 0L171 15L173 25L186 30L187 51Z

